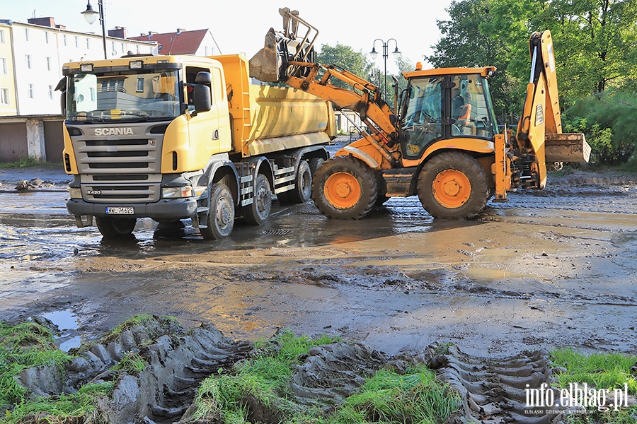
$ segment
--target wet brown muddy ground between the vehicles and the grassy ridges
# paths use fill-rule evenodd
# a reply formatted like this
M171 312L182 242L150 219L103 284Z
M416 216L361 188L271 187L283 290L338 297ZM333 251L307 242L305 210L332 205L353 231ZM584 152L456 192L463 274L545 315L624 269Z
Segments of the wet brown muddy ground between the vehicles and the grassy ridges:
M21 172L19 175L16 172ZM17 192L19 179L38 187ZM541 192L433 220L417 198L358 221L311 201L273 208L229 240L138 221L134 237L76 228L59 170L0 170L0 319L45 314L77 346L139 313L254 341L277 329L379 351L455 343L503 358L573 346L637 353L636 177L569 172Z

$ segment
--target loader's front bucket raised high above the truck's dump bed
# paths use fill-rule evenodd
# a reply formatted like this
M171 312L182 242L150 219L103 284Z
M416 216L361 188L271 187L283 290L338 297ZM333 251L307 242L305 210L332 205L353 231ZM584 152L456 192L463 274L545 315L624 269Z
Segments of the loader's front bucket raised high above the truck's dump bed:
M250 76L267 83L285 81L287 76L301 76L302 66L290 62L314 62L314 42L319 35L312 25L299 18L299 12L280 8L283 31L270 28L265 35L265 46L250 59ZM299 35L299 32L305 32Z

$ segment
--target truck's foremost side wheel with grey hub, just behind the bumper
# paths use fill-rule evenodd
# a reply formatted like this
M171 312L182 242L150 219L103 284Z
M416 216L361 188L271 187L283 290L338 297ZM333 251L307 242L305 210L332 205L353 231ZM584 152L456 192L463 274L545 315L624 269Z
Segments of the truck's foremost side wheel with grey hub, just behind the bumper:
M207 228L200 228L201 235L205 240L228 237L234 228L234 199L226 184L212 184L208 204Z

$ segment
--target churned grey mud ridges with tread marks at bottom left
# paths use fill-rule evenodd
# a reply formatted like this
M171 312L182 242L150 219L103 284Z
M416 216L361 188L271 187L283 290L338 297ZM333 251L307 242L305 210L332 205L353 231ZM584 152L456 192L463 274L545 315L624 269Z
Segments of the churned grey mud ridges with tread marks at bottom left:
M30 396L48 397L74 393L88 382L114 381L112 394L98 399L103 422L173 423L188 409L203 379L231 368L252 350L251 343L231 341L213 326L185 331L176 320L154 317L75 352L63 373L34 367L23 371L18 382ZM132 354L147 363L144 370L121 367L115 372Z

